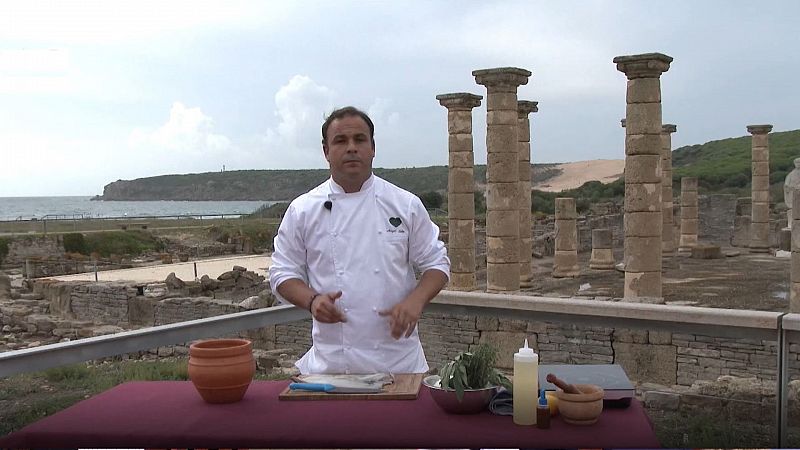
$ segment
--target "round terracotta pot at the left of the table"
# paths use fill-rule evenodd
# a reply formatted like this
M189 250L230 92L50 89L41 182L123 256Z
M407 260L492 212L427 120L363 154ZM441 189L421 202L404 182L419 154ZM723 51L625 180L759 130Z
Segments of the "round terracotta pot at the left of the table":
M208 403L233 403L244 397L256 362L246 339L210 339L189 347L189 378Z

